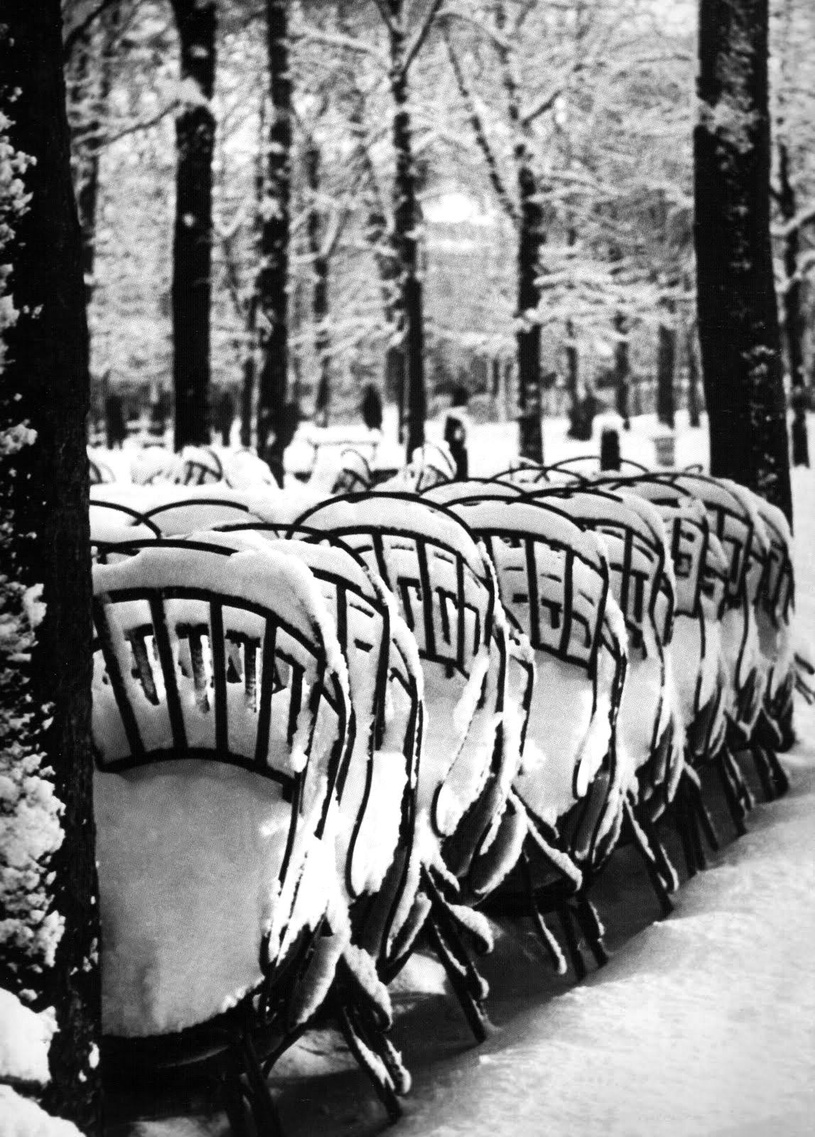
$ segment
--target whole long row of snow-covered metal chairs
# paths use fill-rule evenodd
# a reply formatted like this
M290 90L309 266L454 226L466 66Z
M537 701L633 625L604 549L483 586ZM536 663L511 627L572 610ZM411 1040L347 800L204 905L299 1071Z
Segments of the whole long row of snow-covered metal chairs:
M417 946L483 1038L484 913L581 977L621 841L664 912L662 823L691 873L717 847L705 764L739 831L738 753L787 788L789 526L696 472L452 482L419 455L305 508L215 489L92 505L106 1068L194 1057L235 1131L274 1131L266 1074L329 1015L394 1118L386 986ZM232 852L222 821L249 830Z

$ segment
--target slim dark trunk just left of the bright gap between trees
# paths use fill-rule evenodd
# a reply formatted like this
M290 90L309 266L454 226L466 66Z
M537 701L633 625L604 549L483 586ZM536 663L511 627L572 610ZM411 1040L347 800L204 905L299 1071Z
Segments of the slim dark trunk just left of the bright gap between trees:
M418 277L418 210L416 169L413 158L404 0L388 0L390 13L391 96L393 98L393 240L400 273L400 308L404 327L404 384L406 388L407 457L424 442L426 396L424 387L424 331L422 283Z

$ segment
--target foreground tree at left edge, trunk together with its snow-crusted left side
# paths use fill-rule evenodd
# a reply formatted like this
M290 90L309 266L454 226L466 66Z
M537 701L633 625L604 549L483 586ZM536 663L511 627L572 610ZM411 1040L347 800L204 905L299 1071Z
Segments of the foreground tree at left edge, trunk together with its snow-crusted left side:
M0 986L55 1007L45 1104L94 1134L88 329L59 0L6 0L0 23Z

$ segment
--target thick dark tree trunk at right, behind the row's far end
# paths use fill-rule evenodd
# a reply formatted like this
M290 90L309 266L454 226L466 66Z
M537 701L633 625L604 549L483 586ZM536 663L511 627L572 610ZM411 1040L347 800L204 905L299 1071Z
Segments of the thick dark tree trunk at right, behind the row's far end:
M770 236L768 0L700 0L693 133L710 472L792 515Z

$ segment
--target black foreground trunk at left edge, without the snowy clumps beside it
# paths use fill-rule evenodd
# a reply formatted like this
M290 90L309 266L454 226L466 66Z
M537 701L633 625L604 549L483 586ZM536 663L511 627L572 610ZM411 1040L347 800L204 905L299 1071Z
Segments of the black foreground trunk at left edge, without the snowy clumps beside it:
M31 977L31 987L35 1005L56 1007L59 1027L50 1049L47 1107L95 1134L101 1094L92 1055L100 996L90 742L88 329L59 0L5 0L2 23L0 109L13 122L14 148L36 164L24 175L28 210L13 221L16 234L5 250L13 265L7 287L19 318L6 333L0 412L5 430L27 423L36 433L7 453L0 467L7 538L0 574L24 588L42 584L45 613L30 661L14 661L31 694L31 717L20 723L16 742L22 748L34 742L43 766L52 767L65 806L65 839L49 880L65 928L53 966Z

